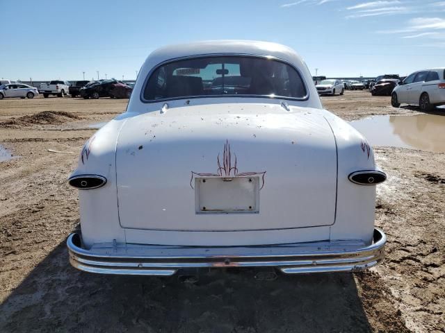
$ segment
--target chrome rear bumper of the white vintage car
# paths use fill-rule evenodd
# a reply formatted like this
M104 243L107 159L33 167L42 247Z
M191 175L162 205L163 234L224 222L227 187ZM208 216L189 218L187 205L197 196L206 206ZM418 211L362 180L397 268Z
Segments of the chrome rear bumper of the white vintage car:
M273 246L149 246L95 244L81 248L79 234L67 239L70 263L81 271L122 275L173 275L181 268L273 267L283 273L359 271L385 258L387 237L375 228L373 244L323 241Z

